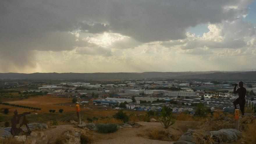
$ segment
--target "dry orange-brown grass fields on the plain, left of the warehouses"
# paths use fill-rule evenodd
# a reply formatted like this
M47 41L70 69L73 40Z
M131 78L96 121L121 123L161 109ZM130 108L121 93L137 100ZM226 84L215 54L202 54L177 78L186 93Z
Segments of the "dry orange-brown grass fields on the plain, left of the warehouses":
M72 104L72 98L68 99L68 98L58 98L58 97L50 97L50 96L39 96L39 97L31 97L28 99L22 99L18 101L11 101L8 103L41 108L40 111L38 110L33 114L27 116L29 122L47 122L50 120L53 120L53 121L77 120L76 108L75 108L75 104ZM6 106L3 104L0 104L0 111L3 111L4 108L8 108L9 113L7 115L0 113L0 116L4 119L3 121L10 121L15 109L17 109L19 114L26 111L33 111L32 109L20 108L15 106ZM50 109L55 109L56 112L50 113L49 112ZM64 110L63 113L59 113L59 109L63 109ZM93 117L96 117L96 118L112 117L113 115L115 115L115 113L118 112L118 110L110 109L110 107L103 107L100 105L95 106L95 105L88 105L88 104L80 105L80 109L81 109L81 118L83 120L85 120L86 118L93 119ZM130 115L131 113L146 114L146 111L125 110L124 112L127 113L127 115ZM35 113L38 113L38 115L35 115Z

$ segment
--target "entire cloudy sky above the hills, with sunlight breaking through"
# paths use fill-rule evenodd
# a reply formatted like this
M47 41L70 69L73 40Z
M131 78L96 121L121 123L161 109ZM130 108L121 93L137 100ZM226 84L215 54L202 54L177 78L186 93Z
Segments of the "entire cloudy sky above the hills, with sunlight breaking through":
M256 70L253 0L1 0L0 73Z

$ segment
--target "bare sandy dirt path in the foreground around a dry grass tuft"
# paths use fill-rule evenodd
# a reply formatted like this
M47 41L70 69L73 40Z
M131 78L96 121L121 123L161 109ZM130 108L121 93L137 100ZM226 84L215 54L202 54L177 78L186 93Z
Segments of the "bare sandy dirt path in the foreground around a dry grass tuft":
M138 122L142 125L141 127L119 129L115 133L100 134L95 131L89 131L93 135L97 135L97 141L94 144L120 144L120 143L131 143L131 144L172 144L182 134L184 134L189 128L196 128L200 126L201 122L186 122L176 121L171 127L165 129L160 122ZM186 127L186 128L185 128ZM153 129L159 129L168 131L173 137L168 141L160 141L149 139L148 133Z

